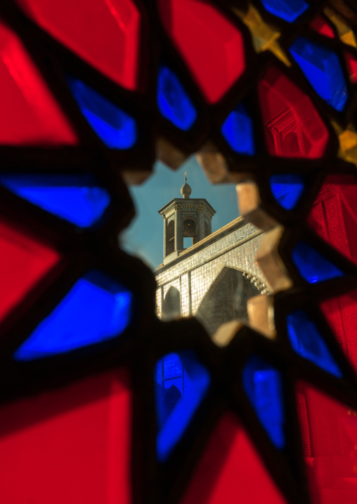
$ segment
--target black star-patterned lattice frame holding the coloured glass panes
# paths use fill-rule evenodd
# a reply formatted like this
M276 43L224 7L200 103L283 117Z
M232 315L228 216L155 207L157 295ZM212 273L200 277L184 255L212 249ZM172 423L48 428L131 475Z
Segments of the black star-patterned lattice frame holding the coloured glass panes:
M309 503L293 385L298 379L308 380L357 409L356 376L318 307L320 300L356 287L357 267L339 255L334 248L327 246L325 241L318 238L303 221L327 174L355 173L355 166L337 159L338 140L329 118L335 119L342 128L355 118L356 86L349 84L351 98L349 105L346 106L346 112L343 114L335 112L316 95L297 65L293 63L292 67L287 69L271 53L257 55L254 52L247 27L233 15L230 7L231 4L244 8L246 5L244 1L219 2L217 7L224 11L242 32L249 69L219 104L209 106L202 99L188 69L164 32L155 9L155 1L136 0L136 4L143 16L141 36L144 42L140 66L142 89L146 91L129 93L106 79L34 25L20 12L13 1L1 2L1 18L21 37L60 106L70 117L80 143L78 147L58 149L0 147L2 160L0 171L93 173L100 183L110 188L113 203L103 218L103 225L99 223L93 230L78 233L72 225L60 222L8 190L0 188L1 219L14 227L31 230L37 237L44 237L41 240L55 246L63 254L58 266L25 296L0 328L0 400L7 402L65 385L79 377L100 373L105 369L129 366L134 387L132 451L134 503L178 502L212 428L226 409L238 413L287 502ZM259 0L254 1L254 5L259 8L266 22L277 26L283 32L280 45L287 52L287 47L295 37L307 33L306 26L309 21L322 11L326 2L316 1L311 10L301 16L292 35L289 34L292 31L289 29L290 25L266 13L261 8ZM344 14L349 15L351 25L357 27L357 13L353 13L351 4L345 1L344 8ZM335 34L337 36L337 33ZM317 42L323 41L325 46L331 46L339 55L345 50L357 56L357 51L342 44L337 37L330 40L310 30L309 38ZM195 102L199 119L193 131L189 133L179 131L157 112L155 88L159 60L166 61L179 74L190 98ZM344 59L340 58L340 61L346 81L349 82ZM302 91L311 96L323 117L330 133L330 142L322 159L308 159L302 162L299 159L289 159L287 162L286 159L272 157L266 152L263 128L259 127L262 125L262 120L258 107L257 81L271 64L283 68L288 77L299 81ZM139 138L135 147L125 152L113 152L100 142L67 88L65 83L67 72L86 81L136 118ZM223 120L242 98L247 100L254 117L259 142L259 154L256 157L235 154L228 147L220 131ZM134 216L134 206L123 183L123 176L126 180L136 181L150 174L152 163L155 161L155 140L160 136L164 136L187 155L197 152L207 140L212 140L226 158L233 176L237 174L238 177L242 173L247 173L249 178L257 181L262 201L261 208L285 226L279 252L294 280L294 287L275 295L275 326L278 331L276 340L268 340L245 327L239 331L228 347L219 348L212 343L195 319L164 323L155 317L155 280L152 273L140 260L119 250L117 234ZM296 211L284 211L269 190L268 177L273 173L287 173L295 169L306 175L308 192ZM304 237L317 249L323 250L327 258L330 257L344 270L345 276L335 281L314 285L302 280L291 260L292 247L299 237ZM122 338L111 340L34 362L13 362L12 354L18 345L27 338L39 321L53 310L74 281L91 267L99 267L108 272L134 293L135 323L126 332L124 340ZM327 345L342 369L343 380L330 376L292 351L287 340L285 316L299 307L304 307L311 313L324 334ZM187 347L193 348L207 365L212 376L212 385L207 398L200 405L193 422L174 449L172 456L167 463L160 465L155 457L156 427L152 369L163 354ZM287 429L286 448L281 452L275 449L261 427L242 390L240 379L242 366L252 353L263 355L264 359L280 369L284 376L289 429Z

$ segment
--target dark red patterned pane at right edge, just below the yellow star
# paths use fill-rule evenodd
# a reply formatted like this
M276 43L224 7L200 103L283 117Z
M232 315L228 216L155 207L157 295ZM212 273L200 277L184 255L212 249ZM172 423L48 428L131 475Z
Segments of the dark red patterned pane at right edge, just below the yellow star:
M313 230L339 253L357 263L357 178L327 177L309 214Z

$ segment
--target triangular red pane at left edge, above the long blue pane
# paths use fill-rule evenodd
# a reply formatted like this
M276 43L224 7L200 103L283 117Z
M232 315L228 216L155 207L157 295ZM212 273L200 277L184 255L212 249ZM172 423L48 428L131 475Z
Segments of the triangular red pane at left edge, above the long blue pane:
M0 23L2 145L76 144L77 136L18 36Z

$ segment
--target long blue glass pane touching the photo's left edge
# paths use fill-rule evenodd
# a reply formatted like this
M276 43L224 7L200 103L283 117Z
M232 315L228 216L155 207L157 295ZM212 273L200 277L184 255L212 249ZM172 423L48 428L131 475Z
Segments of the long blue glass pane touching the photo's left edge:
M108 192L87 175L1 174L0 184L79 227L95 224L110 204Z

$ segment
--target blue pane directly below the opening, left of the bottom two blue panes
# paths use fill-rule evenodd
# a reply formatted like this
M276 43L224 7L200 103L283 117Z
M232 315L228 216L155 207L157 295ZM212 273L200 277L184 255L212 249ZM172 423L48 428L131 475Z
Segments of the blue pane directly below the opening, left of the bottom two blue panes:
M164 462L207 394L209 372L191 351L165 355L155 366L157 458Z

